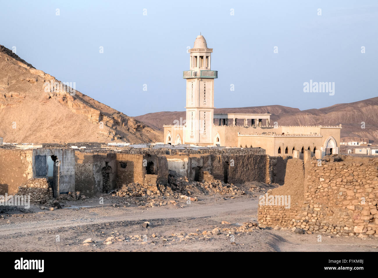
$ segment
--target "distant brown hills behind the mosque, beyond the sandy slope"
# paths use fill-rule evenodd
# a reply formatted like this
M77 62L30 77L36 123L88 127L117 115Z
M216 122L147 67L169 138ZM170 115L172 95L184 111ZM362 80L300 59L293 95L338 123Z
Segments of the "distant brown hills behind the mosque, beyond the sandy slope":
M368 138L370 143L378 143L378 97L352 103L335 104L321 109L299 110L280 105L254 106L242 108L217 108L214 113L266 113L270 112L271 122L279 125L338 125L342 124L342 141ZM185 120L185 112L157 112L135 117L139 121L163 130L163 124L174 120ZM365 128L361 128L365 122Z

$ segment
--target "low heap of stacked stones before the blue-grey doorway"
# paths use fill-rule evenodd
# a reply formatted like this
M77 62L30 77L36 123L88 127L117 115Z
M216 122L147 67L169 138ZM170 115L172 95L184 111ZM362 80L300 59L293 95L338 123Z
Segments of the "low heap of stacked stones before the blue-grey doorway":
M54 200L53 190L49 187L46 178L29 179L19 186L17 195L30 195L30 203L32 204L44 204Z

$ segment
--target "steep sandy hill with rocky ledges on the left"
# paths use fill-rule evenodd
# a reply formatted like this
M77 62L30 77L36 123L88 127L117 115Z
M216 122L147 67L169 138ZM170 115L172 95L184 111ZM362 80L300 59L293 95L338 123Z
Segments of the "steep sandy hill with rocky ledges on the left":
M62 86L0 45L0 137L18 143L143 143L161 141L161 131Z

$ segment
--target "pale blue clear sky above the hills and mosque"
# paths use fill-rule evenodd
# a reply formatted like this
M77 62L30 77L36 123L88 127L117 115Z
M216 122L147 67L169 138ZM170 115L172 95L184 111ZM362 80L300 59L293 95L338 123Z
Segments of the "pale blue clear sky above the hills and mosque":
M0 7L0 45L129 116L185 110L182 72L200 32L218 71L216 108L305 110L378 96L376 0L0 0ZM333 92L306 91L310 80L331 82Z

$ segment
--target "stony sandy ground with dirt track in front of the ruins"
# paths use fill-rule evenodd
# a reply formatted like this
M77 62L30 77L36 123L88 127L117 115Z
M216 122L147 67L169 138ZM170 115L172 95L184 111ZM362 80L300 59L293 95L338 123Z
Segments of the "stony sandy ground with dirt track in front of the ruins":
M104 204L99 204L104 197ZM203 235L215 227L232 228L257 221L258 198L226 200L203 196L158 207L123 206L120 197L99 195L71 201L57 210L31 206L32 213L3 211L2 251L377 251L378 238L297 235L290 230L255 229L247 233ZM122 201L122 200L121 200ZM142 224L149 222L149 227ZM222 224L227 221L230 224ZM114 237L111 244L106 244ZM83 245L83 241L92 242Z

